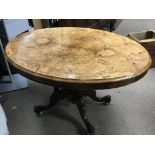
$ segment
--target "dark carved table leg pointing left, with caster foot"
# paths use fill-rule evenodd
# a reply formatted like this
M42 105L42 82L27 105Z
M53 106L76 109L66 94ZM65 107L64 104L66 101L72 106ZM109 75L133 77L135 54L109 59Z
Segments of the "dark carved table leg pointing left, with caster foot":
M50 103L47 105L34 106L34 112L37 115L41 115L43 111L46 111L46 110L54 107L59 99L60 99L60 90L59 90L59 88L54 88L54 92L52 93L52 95L50 97Z

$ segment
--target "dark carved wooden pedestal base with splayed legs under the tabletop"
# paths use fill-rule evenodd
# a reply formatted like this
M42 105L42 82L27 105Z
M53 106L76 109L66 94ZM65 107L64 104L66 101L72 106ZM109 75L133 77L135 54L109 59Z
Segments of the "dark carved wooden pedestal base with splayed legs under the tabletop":
M84 96L89 96L94 101L101 102L104 105L108 105L111 101L111 96L109 95L98 98L95 90L71 90L54 87L54 92L51 95L50 103L45 106L35 106L34 111L37 115L41 115L43 111L54 107L58 100L67 98L69 101L72 101L73 104L76 104L81 118L87 128L88 134L93 135L95 134L95 128L87 118L86 105L83 99Z

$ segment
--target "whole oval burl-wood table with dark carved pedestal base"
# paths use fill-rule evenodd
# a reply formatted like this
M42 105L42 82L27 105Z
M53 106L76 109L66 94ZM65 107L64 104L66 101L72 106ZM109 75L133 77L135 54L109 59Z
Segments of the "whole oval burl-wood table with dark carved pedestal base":
M88 121L84 97L107 105L111 96L98 98L95 90L135 82L151 65L145 48L127 37L73 27L21 34L8 43L6 57L20 74L54 86L50 103L34 107L37 114L68 98L77 105L88 134L95 134L95 128Z

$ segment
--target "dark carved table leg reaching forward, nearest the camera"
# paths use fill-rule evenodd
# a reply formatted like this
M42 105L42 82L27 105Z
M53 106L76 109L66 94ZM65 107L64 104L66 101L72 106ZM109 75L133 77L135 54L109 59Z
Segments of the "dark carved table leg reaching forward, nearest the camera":
M78 107L78 110L80 112L81 118L87 128L87 132L90 135L94 135L95 134L95 128L93 127L93 125L88 121L87 115L86 115L86 105L84 103L83 97L77 99L76 101L74 101Z

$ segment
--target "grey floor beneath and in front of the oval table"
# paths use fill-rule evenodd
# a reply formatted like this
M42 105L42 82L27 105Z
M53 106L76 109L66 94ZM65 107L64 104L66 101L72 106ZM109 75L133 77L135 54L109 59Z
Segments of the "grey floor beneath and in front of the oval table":
M103 106L85 98L88 117L96 134L155 134L155 69L136 83L97 91L110 94ZM33 106L47 104L52 88L29 81L29 88L3 95L10 134L86 134L75 105L66 100L37 117Z

